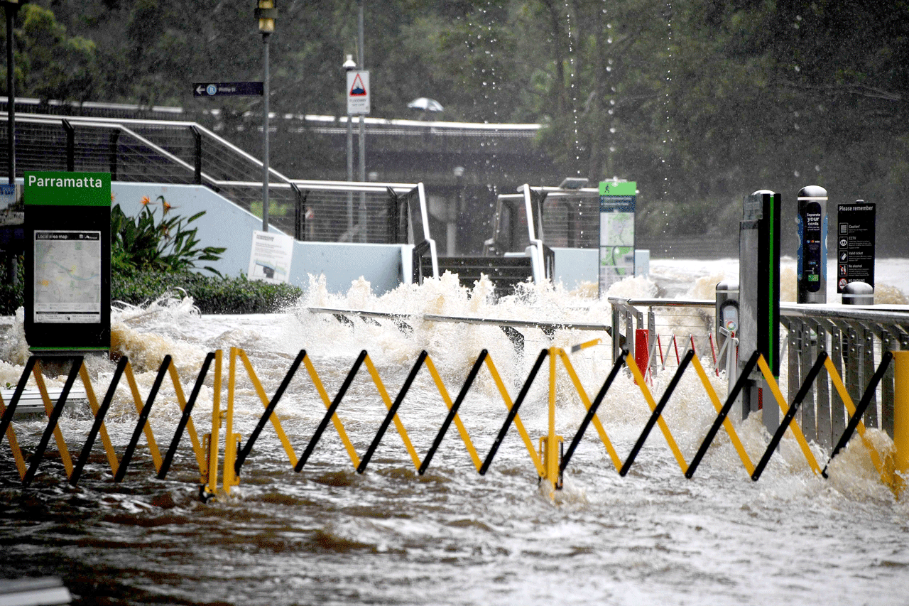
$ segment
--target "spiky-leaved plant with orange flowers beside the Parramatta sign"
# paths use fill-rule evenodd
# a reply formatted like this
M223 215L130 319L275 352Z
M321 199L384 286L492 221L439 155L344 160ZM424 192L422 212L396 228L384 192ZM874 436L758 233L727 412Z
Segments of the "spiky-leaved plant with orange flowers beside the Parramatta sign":
M161 218L155 223L155 208L160 202ZM126 217L120 205L111 208L111 268L115 274L130 275L136 271L186 271L198 261L216 261L224 247L197 247L197 227L189 228L205 211L185 218L173 214L163 196L155 203L143 198L143 208L135 219ZM214 268L205 267L217 274Z

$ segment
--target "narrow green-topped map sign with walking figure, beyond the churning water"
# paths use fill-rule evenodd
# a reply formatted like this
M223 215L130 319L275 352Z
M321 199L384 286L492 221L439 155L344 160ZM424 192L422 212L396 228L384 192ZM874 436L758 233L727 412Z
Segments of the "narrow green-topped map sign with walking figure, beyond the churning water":
M634 181L600 182L600 296L622 278L634 276Z

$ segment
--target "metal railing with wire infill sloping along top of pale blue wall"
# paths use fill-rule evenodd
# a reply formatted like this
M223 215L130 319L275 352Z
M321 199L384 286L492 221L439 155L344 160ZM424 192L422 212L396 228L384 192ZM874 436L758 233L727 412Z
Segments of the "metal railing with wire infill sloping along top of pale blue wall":
M262 162L205 126L25 115L17 116L15 131L20 175L25 170L109 172L114 181L205 185L262 216ZM3 129L4 161L6 137ZM269 176L269 223L296 239L371 244L431 240L419 184L292 179L275 169Z

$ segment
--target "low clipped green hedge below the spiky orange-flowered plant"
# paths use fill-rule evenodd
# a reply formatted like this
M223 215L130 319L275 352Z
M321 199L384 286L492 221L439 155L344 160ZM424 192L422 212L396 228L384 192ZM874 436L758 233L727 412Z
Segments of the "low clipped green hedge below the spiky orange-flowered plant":
M111 298L130 305L143 305L167 292L182 289L204 314L275 313L293 305L303 295L289 284L270 284L240 278L203 276L188 272L144 271L132 276L115 274Z

